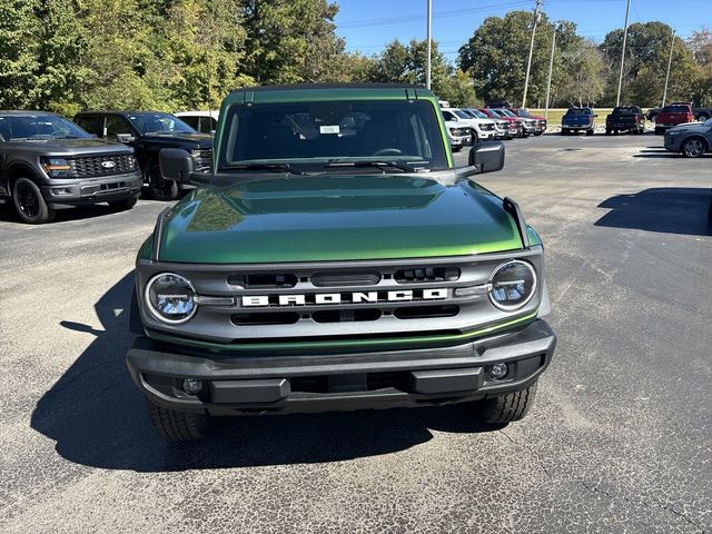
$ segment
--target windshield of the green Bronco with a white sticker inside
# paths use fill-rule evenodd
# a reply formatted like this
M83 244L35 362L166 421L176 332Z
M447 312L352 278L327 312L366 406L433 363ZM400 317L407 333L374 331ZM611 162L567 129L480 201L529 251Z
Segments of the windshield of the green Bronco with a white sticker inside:
M436 109L427 100L234 105L225 125L218 170L280 164L304 171L339 164L353 171L356 162L374 160L448 167Z

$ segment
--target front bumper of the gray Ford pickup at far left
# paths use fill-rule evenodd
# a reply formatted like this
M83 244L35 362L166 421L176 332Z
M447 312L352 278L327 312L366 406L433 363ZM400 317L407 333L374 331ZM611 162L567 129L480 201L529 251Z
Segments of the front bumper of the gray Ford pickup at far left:
M138 197L141 172L101 176L96 178L50 179L42 186L42 196L50 206L81 206Z

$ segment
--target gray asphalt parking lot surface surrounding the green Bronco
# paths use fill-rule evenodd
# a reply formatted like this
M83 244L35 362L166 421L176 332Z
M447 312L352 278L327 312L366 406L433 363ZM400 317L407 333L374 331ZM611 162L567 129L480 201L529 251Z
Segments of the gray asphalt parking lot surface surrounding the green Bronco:
M534 409L495 431L452 406L169 445L123 363L135 254L165 205L42 227L0 208L0 531L710 532L712 156L661 146L514 140L479 180L542 235L558 335Z

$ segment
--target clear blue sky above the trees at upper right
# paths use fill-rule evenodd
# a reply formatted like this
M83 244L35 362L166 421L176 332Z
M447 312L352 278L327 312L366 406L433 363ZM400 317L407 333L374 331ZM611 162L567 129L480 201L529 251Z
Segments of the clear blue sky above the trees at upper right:
M348 51L378 53L398 38L426 37L427 0L334 0L339 6L336 32ZM535 0L432 0L433 39L449 60L487 17L534 9ZM575 22L578 33L602 41L606 32L623 28L626 0L542 0L551 20ZM631 0L629 23L660 20L682 38L703 26L712 27L712 0Z

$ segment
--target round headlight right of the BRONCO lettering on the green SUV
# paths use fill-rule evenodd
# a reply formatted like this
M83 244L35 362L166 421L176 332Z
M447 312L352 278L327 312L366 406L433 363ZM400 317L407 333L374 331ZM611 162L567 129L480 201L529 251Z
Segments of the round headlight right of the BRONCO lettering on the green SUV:
M526 261L514 259L494 269L490 300L504 312L523 308L536 290L536 273Z

